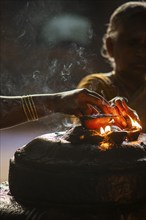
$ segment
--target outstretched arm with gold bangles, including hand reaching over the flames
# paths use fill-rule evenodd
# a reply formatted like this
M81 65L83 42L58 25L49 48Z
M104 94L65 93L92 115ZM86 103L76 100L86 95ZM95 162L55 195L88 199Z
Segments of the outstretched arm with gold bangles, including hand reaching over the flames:
M0 129L4 129L37 120L53 112L79 117L91 114L94 111L92 106L97 106L104 112L107 101L88 89L75 89L53 94L1 96L0 105Z

